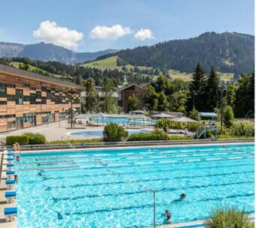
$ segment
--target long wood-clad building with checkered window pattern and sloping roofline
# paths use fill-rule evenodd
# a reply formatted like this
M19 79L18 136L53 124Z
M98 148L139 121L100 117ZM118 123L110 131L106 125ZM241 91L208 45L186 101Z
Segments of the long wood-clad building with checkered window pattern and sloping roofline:
M47 124L80 110L84 87L0 65L0 132Z

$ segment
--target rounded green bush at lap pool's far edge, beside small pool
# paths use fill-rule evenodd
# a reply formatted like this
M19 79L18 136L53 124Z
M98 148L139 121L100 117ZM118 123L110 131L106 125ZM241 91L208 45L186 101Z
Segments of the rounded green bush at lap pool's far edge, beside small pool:
M103 141L104 142L120 142L128 137L128 133L122 126L110 123L104 127Z

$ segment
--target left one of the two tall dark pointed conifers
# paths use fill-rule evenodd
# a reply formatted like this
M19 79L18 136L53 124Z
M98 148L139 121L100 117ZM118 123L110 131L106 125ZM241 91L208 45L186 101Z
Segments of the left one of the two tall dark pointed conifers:
M187 102L187 110L192 110L193 105L196 110L206 110L206 74L200 65L197 63L194 74L192 76L192 82L189 86L190 98Z

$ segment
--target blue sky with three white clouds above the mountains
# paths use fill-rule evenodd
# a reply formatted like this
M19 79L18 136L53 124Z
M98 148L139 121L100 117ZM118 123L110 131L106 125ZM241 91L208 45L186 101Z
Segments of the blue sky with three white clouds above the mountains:
M78 52L205 31L254 34L254 0L8 0L0 8L0 41L44 40Z

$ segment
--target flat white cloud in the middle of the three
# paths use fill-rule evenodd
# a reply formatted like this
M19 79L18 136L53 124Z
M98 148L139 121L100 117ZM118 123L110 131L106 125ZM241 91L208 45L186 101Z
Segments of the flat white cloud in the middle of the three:
M132 30L130 27L123 27L121 25L115 26L96 26L90 31L90 37L92 39L101 40L117 40L126 34L131 34Z

